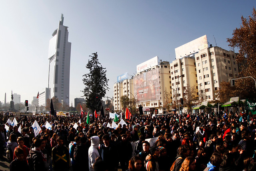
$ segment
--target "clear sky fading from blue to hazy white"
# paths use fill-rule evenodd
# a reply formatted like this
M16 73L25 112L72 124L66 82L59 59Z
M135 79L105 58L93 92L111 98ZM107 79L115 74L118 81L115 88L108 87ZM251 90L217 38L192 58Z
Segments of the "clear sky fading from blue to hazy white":
M32 101L48 86L48 45L61 14L71 47L70 104L81 97L89 55L107 70L112 97L116 77L158 56L172 62L174 49L200 36L230 50L226 38L252 14L255 0L14 0L0 7L0 101L11 91Z

